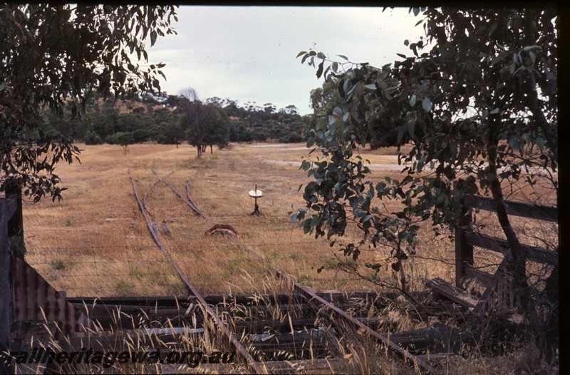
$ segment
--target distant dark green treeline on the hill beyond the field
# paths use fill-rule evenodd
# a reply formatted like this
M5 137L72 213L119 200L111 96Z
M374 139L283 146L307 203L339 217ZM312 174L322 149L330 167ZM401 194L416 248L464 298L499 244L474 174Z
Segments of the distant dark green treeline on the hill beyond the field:
M202 124L200 131L204 134L197 134L197 127L188 120L188 111L198 104L214 110L207 117L209 123ZM68 102L58 113L46 111L42 117L39 131L46 138L63 135L88 145L119 144L125 152L128 145L146 141L197 145L199 137L204 150L213 145L223 148L229 142L302 142L309 124L309 116L301 117L292 105L276 110L271 103L239 105L237 101L220 98L202 103L166 93L120 101L91 99L84 111Z

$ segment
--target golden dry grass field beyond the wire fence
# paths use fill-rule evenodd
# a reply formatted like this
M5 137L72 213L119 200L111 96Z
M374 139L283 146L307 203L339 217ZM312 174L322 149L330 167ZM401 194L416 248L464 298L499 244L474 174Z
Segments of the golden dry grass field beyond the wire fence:
M24 206L26 260L56 289L67 289L70 296L184 293L185 287L174 269L152 242L133 197L128 168L141 199L147 193L152 220L159 228L164 222L171 232L161 232L162 243L204 294L247 293L249 279L265 279L271 275L271 269L282 269L319 291L377 290L374 284L341 271L339 260L353 263L342 257L336 247L304 235L301 228L290 222L288 212L304 205L298 187L309 182L306 173L299 170L308 151L302 144L233 145L230 150L213 155L204 153L202 159L195 157L195 149L189 145L132 145L127 155L122 155L116 145L80 147L85 149L81 155L83 164L58 166L63 185L69 188L64 192L64 200ZM371 163L388 163L395 158L385 155L387 150L381 154L378 150L360 152ZM204 236L212 222L195 217L169 187L157 183L150 167L182 195L190 181L198 207L213 222L232 225L242 235L239 240L264 257L269 267L223 235ZM398 171L373 170L372 179L380 180L385 175L398 178ZM259 199L261 217L249 216L254 202L247 191L255 184L264 191L264 197ZM396 202L388 202L388 210L395 207ZM480 222L491 230L489 234L500 236L494 215L480 215ZM524 227L524 220L517 220L518 227ZM525 232L534 236L552 230L549 225L540 225L541 228L527 226ZM349 228L348 234L358 236L356 228ZM537 241L535 238L529 245L537 245ZM371 250L364 252L358 263L382 262L387 257L388 250ZM451 281L453 257L451 240L445 233L435 237L425 222L418 257L406 263L412 289L422 289L421 279L425 277ZM485 252L478 252L475 257L490 264L500 262L496 255ZM318 273L317 269L323 266ZM397 283L388 265L380 277Z

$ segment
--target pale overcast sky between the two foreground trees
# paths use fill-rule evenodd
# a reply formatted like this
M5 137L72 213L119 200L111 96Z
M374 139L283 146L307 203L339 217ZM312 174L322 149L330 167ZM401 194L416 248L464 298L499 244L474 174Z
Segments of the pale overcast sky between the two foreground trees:
M338 60L341 54L383 66L395 53L411 54L406 38L423 35L408 8L180 6L177 16L178 34L149 49L150 63L166 63L162 91L192 87L201 100L293 104L301 114L312 113L309 93L323 80L307 62L301 65L299 51L316 48Z

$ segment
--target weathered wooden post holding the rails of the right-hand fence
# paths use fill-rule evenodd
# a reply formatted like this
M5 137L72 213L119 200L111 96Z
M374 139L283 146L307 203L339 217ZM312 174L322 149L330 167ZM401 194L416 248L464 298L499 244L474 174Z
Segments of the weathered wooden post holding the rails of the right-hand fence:
M456 181L453 184L454 199L462 207L461 215L457 220L457 225L455 225L455 286L458 288L462 287L467 268L473 267L473 246L469 245L465 239L465 231L471 223L471 209L465 207L465 201L459 194L461 189L462 183Z

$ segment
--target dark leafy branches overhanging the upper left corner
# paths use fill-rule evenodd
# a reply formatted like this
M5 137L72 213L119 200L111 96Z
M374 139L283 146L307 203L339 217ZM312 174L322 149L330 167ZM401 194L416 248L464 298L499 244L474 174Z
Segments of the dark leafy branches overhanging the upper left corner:
M143 69L129 56L147 62L146 39L152 45L158 35L175 33L172 18L174 6L1 6L0 191L23 190L36 201L61 199L53 170L78 160L80 150L73 145L75 134L58 125L44 132L41 110L61 118L69 106L76 118L92 92L118 98L160 90L164 64Z

